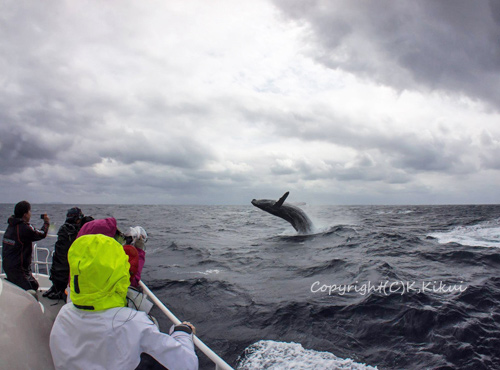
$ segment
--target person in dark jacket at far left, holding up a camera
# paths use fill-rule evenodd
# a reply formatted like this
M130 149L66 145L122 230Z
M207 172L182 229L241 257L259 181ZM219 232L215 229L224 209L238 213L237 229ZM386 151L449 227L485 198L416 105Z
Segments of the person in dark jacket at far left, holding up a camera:
M23 200L16 204L14 215L9 218L2 242L2 267L7 280L24 290L38 289L38 281L31 272L33 242L44 239L49 231L50 219L43 215L43 226L36 229L29 222L31 205Z

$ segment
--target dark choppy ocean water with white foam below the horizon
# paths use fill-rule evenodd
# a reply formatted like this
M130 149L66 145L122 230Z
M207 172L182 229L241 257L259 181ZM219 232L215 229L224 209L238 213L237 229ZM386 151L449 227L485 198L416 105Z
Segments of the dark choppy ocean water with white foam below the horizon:
M147 230L143 281L235 368L500 368L500 206L303 205L311 235L250 204L81 208Z

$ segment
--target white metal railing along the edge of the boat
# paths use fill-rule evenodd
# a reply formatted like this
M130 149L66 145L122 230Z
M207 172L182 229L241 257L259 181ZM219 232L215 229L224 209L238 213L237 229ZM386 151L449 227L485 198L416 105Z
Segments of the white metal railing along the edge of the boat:
M3 233L3 232L2 232ZM0 245L1 247L1 245ZM45 251L47 253L45 260L40 261L38 259L38 251ZM36 243L33 245L33 262L32 264L34 265L34 272L35 276L41 276L39 272L39 265L44 265L47 268L47 274L49 272L49 267L51 262L49 261L49 256L53 255L54 253L50 252L48 248L44 247L38 247ZM2 271L2 256L0 254L0 272ZM47 276L48 277L48 276ZM139 285L141 286L143 292L151 299L151 301L165 314L165 316L168 317L168 319L174 324L174 325L179 325L181 324L181 321L163 304L162 301L156 297L156 295L148 288L144 282L139 281ZM48 289L49 287L40 287L43 289ZM214 364L215 364L215 370L234 370L231 366L227 364L219 355L217 355L214 351L210 349L205 343L201 341L196 335L193 335L193 343L198 348L201 352L205 354Z

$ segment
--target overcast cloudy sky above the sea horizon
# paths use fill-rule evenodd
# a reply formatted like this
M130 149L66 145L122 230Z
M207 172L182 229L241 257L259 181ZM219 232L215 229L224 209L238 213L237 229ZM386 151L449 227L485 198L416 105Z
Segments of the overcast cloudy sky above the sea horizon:
M0 202L500 203L500 1L0 3Z

